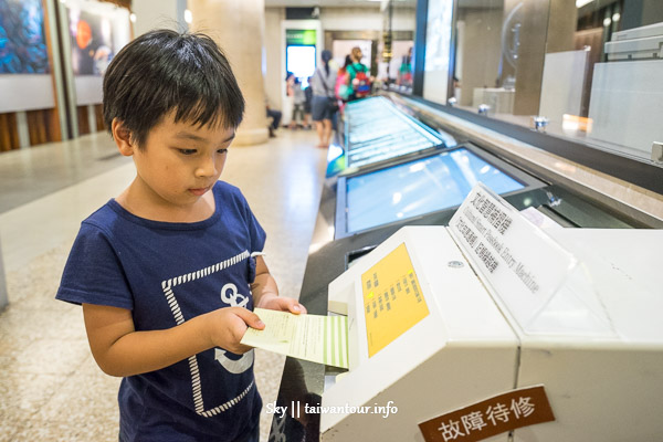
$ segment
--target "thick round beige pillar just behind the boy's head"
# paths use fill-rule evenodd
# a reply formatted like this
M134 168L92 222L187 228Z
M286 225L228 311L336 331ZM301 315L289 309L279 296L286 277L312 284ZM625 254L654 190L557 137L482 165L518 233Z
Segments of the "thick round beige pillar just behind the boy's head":
M263 81L264 0L189 0L191 32L204 32L219 44L238 78L246 107L234 146L269 139Z

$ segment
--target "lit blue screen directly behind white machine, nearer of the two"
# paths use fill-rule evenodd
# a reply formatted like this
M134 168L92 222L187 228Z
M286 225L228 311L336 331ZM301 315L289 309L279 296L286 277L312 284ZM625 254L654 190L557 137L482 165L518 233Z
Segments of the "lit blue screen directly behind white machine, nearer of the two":
M478 181L496 193L524 187L464 148L348 178L347 231L460 206Z

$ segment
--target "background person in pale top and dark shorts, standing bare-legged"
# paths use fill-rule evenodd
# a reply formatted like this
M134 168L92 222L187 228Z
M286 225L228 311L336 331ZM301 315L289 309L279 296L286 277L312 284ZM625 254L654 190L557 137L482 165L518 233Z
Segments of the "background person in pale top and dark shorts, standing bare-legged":
M336 103L336 72L329 66L332 52L323 51L323 63L317 66L311 78L313 90L312 116L318 136L318 147L326 148L332 140L332 119L338 105Z

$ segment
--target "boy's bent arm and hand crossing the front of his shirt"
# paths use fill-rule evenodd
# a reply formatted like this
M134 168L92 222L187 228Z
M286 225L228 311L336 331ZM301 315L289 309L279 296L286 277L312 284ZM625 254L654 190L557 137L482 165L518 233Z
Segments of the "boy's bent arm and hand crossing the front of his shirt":
M110 376L158 370L212 347L243 354L251 349L240 344L246 328L264 328L257 315L242 307L219 308L151 332L136 332L125 308L83 304L83 316L92 355Z

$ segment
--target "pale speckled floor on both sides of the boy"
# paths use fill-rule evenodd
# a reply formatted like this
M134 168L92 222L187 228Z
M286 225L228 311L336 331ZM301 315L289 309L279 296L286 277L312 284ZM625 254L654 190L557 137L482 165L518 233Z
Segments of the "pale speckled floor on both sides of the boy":
M222 179L239 186L267 231L282 295L299 293L325 151L311 131L232 147ZM81 308L53 299L83 218L124 189L130 159L106 134L0 155L0 246L10 305L0 313L0 441L116 441L119 379L90 355ZM256 354L257 386L275 400L284 359ZM271 415L263 413L266 440Z

